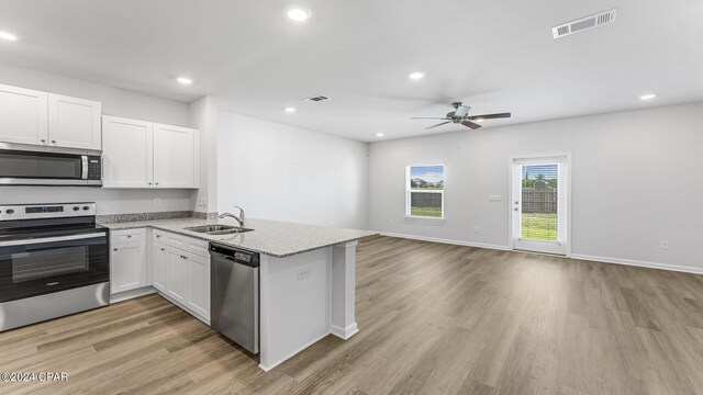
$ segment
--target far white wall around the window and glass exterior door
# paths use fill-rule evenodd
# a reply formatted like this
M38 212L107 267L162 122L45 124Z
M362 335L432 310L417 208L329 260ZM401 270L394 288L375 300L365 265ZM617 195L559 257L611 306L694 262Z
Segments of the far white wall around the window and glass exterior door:
M373 143L369 227L506 247L509 158L570 151L574 257L703 271L701 125L703 103L695 103ZM440 162L446 222L404 218L405 166Z

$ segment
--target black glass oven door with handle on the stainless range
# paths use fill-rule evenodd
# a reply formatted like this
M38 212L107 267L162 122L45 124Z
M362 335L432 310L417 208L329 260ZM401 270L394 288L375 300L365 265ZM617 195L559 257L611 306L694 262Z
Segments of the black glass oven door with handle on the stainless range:
M104 230L0 241L0 303L109 281Z

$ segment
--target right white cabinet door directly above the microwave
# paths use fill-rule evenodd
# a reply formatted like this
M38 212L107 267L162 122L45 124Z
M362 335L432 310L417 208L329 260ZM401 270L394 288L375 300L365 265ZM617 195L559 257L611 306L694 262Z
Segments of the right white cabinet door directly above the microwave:
M99 102L48 94L48 137L52 146L102 149Z

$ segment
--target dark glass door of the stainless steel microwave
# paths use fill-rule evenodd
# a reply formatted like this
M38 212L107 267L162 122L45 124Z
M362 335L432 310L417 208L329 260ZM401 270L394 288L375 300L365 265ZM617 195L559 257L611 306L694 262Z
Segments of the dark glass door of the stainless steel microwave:
M1 184L85 185L88 170L87 155L0 149Z

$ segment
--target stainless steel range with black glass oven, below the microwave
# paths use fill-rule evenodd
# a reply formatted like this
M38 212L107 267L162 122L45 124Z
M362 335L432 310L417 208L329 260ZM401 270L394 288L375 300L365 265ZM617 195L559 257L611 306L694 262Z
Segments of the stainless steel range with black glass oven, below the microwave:
M108 229L93 203L0 206L0 330L109 303Z

